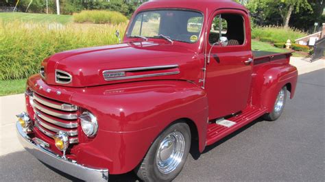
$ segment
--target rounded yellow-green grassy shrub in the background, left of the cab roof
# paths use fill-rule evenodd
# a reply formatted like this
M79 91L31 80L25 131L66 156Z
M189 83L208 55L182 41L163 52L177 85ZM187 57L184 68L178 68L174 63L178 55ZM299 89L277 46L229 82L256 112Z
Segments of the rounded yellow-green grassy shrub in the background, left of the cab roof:
M126 18L120 12L87 10L73 14L73 21L75 21L76 23L111 23L117 25L119 23L125 23L126 21L128 21L128 18Z

